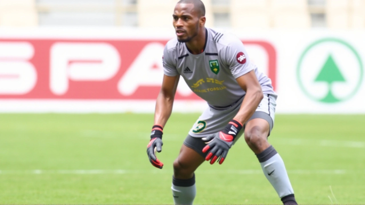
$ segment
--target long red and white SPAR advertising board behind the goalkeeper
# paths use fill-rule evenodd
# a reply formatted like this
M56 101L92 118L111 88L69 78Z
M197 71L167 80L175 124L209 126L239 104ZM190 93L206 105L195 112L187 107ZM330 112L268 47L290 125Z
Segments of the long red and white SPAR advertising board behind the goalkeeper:
M365 32L234 32L278 113L365 113ZM154 112L173 30L0 30L0 112ZM219 97L219 96L218 96ZM180 80L175 112L207 104Z

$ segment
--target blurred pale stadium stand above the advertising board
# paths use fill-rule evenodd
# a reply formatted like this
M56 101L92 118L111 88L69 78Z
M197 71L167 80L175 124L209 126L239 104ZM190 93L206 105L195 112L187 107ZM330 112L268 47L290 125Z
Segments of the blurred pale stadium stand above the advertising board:
M168 27L175 0L1 0L1 26ZM362 0L205 0L208 27L363 29ZM244 11L244 12L243 12ZM245 24L237 19L247 19Z

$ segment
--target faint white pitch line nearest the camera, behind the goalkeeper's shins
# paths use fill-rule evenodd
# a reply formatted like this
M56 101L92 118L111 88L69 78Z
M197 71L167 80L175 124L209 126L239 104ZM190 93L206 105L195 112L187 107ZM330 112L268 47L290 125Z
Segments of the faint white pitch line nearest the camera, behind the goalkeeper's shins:
M289 174L356 174L365 170L288 170ZM0 174L168 174L173 170L0 170ZM262 170L201 170L204 174L262 174Z

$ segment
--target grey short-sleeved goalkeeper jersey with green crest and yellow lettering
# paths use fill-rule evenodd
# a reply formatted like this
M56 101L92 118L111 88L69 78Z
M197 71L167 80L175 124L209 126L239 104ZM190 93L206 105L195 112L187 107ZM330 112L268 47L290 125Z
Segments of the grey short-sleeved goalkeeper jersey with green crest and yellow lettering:
M164 74L181 75L189 88L212 107L227 107L246 92L236 78L255 71L262 91L276 96L271 80L251 63L247 51L237 36L207 28L203 53L193 55L185 43L170 40L164 49Z

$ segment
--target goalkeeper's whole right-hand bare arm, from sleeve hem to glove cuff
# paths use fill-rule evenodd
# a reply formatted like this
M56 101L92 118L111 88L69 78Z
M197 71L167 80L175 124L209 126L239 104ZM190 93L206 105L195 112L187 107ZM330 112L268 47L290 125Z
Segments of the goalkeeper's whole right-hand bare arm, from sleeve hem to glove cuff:
M255 112L264 95L262 94L261 85L257 80L255 71L251 70L236 80L239 86L246 91L246 96L243 98L241 108L234 119L245 124Z

